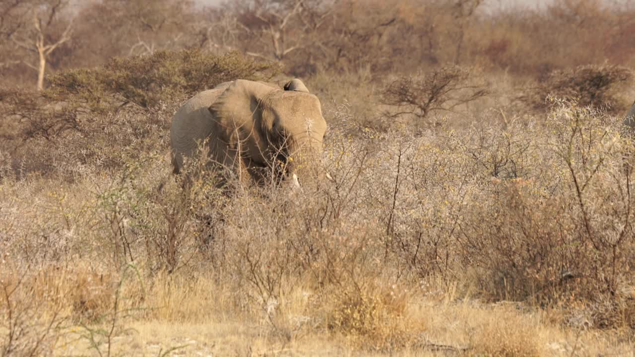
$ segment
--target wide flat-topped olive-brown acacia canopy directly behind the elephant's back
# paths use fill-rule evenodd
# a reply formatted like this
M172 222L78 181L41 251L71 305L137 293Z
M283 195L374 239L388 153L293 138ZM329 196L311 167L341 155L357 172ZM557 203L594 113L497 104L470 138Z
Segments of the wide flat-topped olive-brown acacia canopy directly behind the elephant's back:
M269 79L279 67L230 52L157 51L149 56L115 57L96 69L74 69L51 77L48 98L91 111L114 111L128 103L144 109L192 96L217 84Z

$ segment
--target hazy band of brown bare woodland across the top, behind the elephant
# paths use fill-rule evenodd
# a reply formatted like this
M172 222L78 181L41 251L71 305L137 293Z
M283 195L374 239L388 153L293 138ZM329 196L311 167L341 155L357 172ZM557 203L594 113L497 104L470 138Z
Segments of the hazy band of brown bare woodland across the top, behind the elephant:
M64 69L183 48L237 50L279 62L295 76L367 68L383 77L449 63L541 79L578 65L631 64L635 55L633 0L219 3L4 1L0 83L43 89L50 74ZM34 27L30 9L43 27Z

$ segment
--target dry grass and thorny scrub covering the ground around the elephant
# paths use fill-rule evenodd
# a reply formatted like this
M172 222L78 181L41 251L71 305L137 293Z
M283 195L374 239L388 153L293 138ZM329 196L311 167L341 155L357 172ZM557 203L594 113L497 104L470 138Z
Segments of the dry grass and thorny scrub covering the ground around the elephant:
M632 352L631 138L619 118L552 105L411 132L327 102L334 182L307 178L293 193L237 181L221 192L206 173L183 191L166 147L172 105L33 138L27 155L1 156L0 346Z

